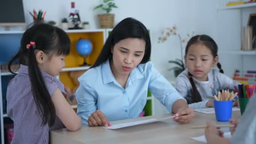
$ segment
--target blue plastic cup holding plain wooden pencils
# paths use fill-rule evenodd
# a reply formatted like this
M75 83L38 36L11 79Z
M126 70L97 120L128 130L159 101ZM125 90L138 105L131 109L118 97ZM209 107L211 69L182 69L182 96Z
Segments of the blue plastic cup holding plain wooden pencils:
M226 122L231 119L233 101L216 101L214 99L213 104L217 121Z

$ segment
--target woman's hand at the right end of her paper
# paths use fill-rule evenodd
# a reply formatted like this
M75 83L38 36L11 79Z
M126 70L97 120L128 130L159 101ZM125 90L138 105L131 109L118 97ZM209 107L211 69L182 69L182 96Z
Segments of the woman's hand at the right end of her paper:
M173 120L177 123L189 123L195 117L195 112L192 108L181 108L174 116Z

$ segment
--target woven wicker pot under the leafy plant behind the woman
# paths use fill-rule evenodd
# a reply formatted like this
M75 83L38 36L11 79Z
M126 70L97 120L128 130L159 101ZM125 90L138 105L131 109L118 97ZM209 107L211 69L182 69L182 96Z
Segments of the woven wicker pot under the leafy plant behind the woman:
M99 24L101 25L101 29L113 28L114 27L114 19L115 14L98 14Z

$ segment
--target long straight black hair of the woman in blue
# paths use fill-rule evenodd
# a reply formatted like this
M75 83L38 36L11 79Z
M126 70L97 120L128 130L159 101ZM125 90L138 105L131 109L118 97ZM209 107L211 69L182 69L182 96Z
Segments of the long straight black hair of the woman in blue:
M113 28L101 50L101 53L91 68L97 67L108 59L111 59L111 48L113 48L120 40L125 38L139 38L146 42L145 54L140 64L148 62L151 54L151 42L148 30L140 21L133 18L126 18L120 21Z

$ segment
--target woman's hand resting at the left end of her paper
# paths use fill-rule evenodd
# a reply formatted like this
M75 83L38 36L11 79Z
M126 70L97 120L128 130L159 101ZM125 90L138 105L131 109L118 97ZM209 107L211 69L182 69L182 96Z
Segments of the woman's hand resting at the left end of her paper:
M107 117L100 111L96 110L87 120L89 126L104 126L108 127L112 124L108 122Z

